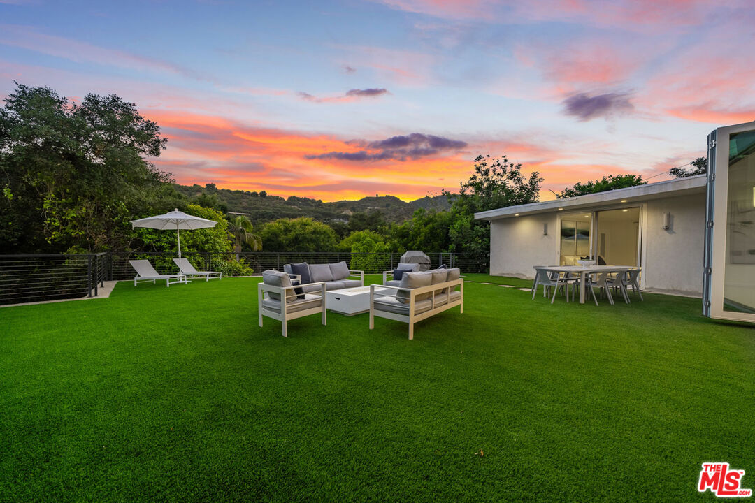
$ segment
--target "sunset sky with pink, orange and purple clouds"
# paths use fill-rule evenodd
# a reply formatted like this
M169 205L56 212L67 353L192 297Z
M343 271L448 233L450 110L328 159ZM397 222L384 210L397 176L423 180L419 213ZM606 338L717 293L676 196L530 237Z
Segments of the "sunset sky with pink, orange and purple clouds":
M411 201L490 154L546 200L755 120L753 26L751 0L0 0L0 98L118 94L183 184Z

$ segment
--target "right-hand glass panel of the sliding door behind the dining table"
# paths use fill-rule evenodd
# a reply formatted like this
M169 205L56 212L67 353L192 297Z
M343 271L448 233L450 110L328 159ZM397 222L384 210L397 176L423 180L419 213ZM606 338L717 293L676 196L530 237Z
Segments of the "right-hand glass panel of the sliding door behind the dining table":
M593 241L599 264L639 266L639 207L598 211Z

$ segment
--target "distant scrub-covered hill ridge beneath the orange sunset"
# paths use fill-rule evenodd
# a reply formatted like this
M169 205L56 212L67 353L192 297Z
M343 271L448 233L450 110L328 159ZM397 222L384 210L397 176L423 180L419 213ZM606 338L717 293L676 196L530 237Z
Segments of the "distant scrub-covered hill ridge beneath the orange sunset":
M451 207L445 195L425 196L408 203L393 195L324 203L319 199L297 196L282 198L277 195L267 195L264 192L217 189L212 184L205 187L176 184L175 187L178 192L189 198L199 197L202 193L209 197L215 196L220 204L227 207L229 213L247 214L252 223L299 216L310 216L326 223L347 222L353 213L371 211L383 213L388 222L403 222L410 219L414 210L418 208L442 211Z

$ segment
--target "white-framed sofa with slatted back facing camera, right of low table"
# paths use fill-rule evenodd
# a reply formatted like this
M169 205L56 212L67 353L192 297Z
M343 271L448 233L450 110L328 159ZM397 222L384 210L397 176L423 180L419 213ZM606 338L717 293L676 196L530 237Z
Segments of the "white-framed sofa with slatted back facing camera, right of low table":
M464 280L458 268L405 272L398 286L370 286L370 329L374 317L402 321L409 325L409 340L414 339L414 324L459 306L464 312Z

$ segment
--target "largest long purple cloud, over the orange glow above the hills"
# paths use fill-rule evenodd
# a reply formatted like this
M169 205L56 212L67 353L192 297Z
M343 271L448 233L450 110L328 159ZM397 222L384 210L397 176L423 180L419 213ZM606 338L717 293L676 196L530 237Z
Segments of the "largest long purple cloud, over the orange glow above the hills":
M437 155L442 152L455 152L467 146L467 143L461 140L450 140L442 136L422 133L391 136L385 140L374 142L352 140L347 143L376 149L379 152L367 152L366 150L360 150L359 152L325 152L325 154L305 155L304 157L307 159L338 159L341 161L384 161L387 159L406 161L407 159L427 157L428 155Z

